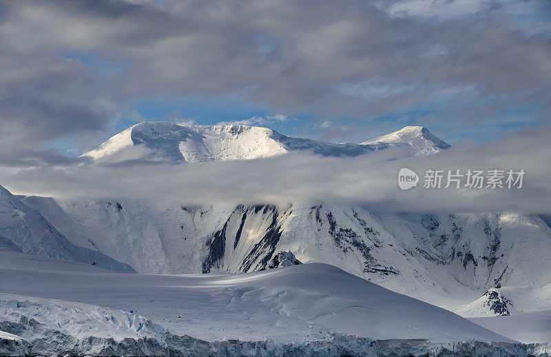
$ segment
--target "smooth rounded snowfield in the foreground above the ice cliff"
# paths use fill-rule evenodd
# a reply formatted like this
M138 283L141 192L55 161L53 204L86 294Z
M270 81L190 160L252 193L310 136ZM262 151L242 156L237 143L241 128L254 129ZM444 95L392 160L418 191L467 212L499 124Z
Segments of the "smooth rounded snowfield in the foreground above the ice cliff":
M511 342L331 265L249 274L116 274L87 265L90 270L83 272L79 264L73 271L59 261L29 266L12 254L20 253L0 252L0 318L32 317L72 336L151 336L167 329L207 340L291 342L322 340L338 332L380 339ZM163 329L149 324L141 332L146 319Z

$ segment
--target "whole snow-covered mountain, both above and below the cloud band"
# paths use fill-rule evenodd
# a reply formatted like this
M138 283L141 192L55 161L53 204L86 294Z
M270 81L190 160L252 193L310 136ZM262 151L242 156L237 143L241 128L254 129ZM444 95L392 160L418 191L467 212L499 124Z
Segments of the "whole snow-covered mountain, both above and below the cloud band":
M405 147L406 154L415 155L435 154L449 145L422 127L406 127L362 144L334 144L266 128L146 122L87 155L98 163L198 163L258 159L293 150L353 156L388 147ZM188 206L116 197L20 199L72 245L141 273L253 272L290 252L302 263L329 263L465 316L503 314L503 304L510 314L551 309L550 300L541 299L547 291L543 287L551 283L551 228L535 215L388 214L330 202ZM43 255L55 256L55 249L50 250ZM508 294L507 289L530 293Z

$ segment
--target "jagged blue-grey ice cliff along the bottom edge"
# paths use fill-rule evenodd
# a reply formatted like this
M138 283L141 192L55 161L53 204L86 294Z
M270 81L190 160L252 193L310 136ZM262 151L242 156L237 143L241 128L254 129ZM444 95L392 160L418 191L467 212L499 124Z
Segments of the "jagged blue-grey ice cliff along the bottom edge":
M166 332L164 338L75 338L50 329L32 318L19 323L0 321L0 331L25 334L4 338L1 356L541 356L551 354L550 343L431 343L428 340L371 340L333 334L329 340L280 343L276 340L225 340L207 342L191 336Z

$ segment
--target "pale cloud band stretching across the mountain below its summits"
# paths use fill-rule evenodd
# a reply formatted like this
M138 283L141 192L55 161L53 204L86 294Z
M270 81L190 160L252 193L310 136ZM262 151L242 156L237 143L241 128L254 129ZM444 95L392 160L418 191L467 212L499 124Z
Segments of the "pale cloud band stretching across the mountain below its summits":
M20 194L70 200L140 201L151 204L318 203L358 204L377 212L521 212L551 214L548 139L551 127L507 141L452 147L432 156L402 157L383 150L354 158L305 152L251 161L170 165L129 160L115 165L78 163L12 170L0 182ZM433 170L520 170L523 187L399 190L397 174ZM421 185L419 185L421 186Z

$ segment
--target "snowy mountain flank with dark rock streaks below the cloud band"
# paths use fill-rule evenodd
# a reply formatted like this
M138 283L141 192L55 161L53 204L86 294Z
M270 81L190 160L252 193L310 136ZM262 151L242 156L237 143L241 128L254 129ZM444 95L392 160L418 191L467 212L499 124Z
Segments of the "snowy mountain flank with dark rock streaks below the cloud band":
M90 244L142 273L253 272L291 252L302 263L329 263L453 311L488 289L551 283L551 229L538 216L382 214L334 203L186 207L22 199L74 244ZM534 309L523 304L512 313L551 308L549 300Z

